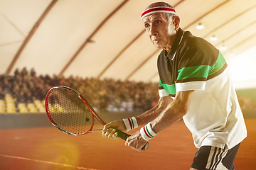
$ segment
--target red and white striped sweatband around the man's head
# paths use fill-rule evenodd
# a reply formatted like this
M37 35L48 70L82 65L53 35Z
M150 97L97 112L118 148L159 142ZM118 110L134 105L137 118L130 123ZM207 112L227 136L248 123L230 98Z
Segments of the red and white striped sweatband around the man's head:
M165 6L157 6L157 7L146 9L142 13L141 18L143 20L143 18L145 18L146 16L150 16L150 15L152 15L154 13L172 13L172 14L176 15L176 11L174 10L174 8L165 7Z

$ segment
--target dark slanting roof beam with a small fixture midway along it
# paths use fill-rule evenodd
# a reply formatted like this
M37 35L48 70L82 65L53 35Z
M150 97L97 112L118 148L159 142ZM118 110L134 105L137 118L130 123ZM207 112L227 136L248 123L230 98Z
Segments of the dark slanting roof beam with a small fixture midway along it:
M82 51L82 49L87 45L88 42L92 41L92 37L98 32L98 30L100 30L100 28L102 28L102 26L114 15L114 13L116 13L120 8L122 8L122 6L124 6L124 4L126 4L128 2L128 0L125 0L122 2L122 4L120 4L119 6L117 6L117 8L114 9L114 11L112 11L112 13L110 13L110 15L108 15L105 20L102 21L102 23L100 23L99 26L97 26L97 28L92 32L92 34L85 40L85 42L82 43L82 45L79 47L78 51L75 52L75 54L73 55L73 57L71 57L71 59L69 60L69 62L65 65L65 67L62 69L62 71L60 72L59 76L62 76L63 73L68 69L68 67L70 66L70 64L75 60L76 57L78 57L78 55L80 54L80 52Z

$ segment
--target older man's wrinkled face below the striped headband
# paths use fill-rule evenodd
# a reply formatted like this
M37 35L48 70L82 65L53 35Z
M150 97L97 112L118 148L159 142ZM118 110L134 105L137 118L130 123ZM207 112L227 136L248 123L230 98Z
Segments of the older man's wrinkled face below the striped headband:
M158 48L170 49L176 35L173 19L168 19L164 13L153 13L143 21L151 42Z

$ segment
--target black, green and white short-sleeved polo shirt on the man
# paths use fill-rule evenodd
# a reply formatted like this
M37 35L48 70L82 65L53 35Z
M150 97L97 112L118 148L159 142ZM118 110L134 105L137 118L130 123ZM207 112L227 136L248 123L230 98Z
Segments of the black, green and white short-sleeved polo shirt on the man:
M194 90L183 121L196 147L232 148L247 136L245 121L230 81L228 64L210 42L179 28L170 52L157 61L159 96Z

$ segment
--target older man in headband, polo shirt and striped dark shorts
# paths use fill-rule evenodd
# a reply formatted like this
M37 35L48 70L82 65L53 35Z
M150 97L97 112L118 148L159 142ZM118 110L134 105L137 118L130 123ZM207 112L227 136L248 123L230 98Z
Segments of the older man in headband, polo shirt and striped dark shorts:
M193 169L235 169L240 142L247 136L245 121L223 55L206 40L179 28L175 9L164 2L142 13L146 33L158 57L159 103L137 118L105 125L102 135L116 138L115 129L144 126L125 145L140 151L146 141L183 118L198 147Z

